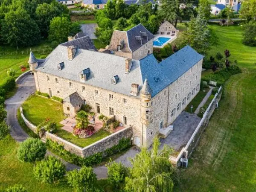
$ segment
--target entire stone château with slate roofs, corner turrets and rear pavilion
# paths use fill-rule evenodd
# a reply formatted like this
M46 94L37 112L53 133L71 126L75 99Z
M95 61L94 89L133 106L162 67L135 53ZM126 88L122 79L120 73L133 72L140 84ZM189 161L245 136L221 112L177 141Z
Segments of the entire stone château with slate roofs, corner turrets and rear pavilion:
M203 59L186 46L158 62L153 38L139 24L114 31L110 45L99 51L80 34L44 61L31 52L36 89L63 98L64 113L71 116L83 104L115 116L132 126L134 144L148 147L156 135L169 134L172 122L198 93Z

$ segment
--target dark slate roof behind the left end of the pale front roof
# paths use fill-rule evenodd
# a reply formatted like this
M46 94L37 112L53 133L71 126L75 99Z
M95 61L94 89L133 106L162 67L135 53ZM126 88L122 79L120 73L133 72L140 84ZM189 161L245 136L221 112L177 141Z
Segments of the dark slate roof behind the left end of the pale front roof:
M97 51L97 49L93 44L93 41L89 38L88 35L81 38L74 39L72 41L67 41L61 45L66 47L73 45L75 47L78 47L79 49L86 49L86 50L91 49L91 50Z

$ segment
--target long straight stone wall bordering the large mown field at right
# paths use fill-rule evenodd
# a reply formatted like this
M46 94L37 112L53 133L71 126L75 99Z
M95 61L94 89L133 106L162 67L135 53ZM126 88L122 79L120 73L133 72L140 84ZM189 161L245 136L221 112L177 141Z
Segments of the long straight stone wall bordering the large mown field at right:
M198 145L198 142L200 140L202 133L204 132L204 129L207 127L209 123L209 119L211 118L212 113L215 111L215 108L217 107L218 102L221 99L221 94L222 94L222 87L218 89L218 92L215 94L214 98L212 99L212 102L210 103L207 110L205 111L203 118L199 122L197 128L195 129L194 133L190 137L186 146L182 148L182 150L180 151L177 157L173 157L170 155L169 160L173 164L180 166L180 158L182 157L189 158L191 156L192 152Z

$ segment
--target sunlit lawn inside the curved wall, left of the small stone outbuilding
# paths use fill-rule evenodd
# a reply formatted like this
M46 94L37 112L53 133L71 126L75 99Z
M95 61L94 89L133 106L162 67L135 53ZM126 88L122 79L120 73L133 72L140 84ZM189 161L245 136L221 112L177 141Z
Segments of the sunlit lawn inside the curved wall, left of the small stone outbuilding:
M41 96L30 96L22 104L22 107L26 119L36 126L45 122L46 119L50 119L51 121L58 123L66 118L63 113L61 103Z

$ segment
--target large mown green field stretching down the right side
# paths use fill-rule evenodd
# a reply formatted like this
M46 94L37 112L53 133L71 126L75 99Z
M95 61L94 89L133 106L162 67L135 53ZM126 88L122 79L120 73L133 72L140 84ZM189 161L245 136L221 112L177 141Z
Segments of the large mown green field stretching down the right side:
M210 54L229 49L243 73L224 85L219 108L214 112L188 169L180 169L175 192L256 191L256 47L241 44L239 26L211 26L220 44Z

